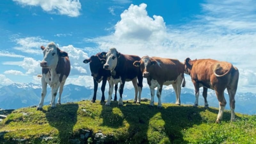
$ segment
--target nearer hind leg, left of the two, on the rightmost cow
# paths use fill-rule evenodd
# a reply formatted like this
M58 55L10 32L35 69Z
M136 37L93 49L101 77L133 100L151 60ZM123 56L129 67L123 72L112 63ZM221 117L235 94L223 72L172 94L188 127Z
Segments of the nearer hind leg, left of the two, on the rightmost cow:
M226 99L224 97L224 90L215 90L218 101L219 101L219 113L216 119L216 123L220 123L220 120L222 119L223 112L225 110L225 106L227 104Z

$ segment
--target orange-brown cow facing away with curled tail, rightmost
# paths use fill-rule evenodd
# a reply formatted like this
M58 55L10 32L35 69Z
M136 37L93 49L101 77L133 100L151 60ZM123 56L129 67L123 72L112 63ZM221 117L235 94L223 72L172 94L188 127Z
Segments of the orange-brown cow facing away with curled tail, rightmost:
M204 87L204 107L208 108L207 89L215 90L219 101L219 113L216 123L220 123L225 106L227 104L224 97L224 90L227 88L229 95L229 105L231 110L231 121L235 121L235 94L239 78L236 67L226 61L212 59L191 60L185 59L185 73L191 76L195 87L196 101L194 107L198 106L199 88Z

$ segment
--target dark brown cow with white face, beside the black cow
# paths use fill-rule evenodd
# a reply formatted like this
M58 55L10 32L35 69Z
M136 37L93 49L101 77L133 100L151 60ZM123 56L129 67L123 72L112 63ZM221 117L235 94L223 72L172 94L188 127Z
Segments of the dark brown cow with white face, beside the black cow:
M106 54L106 61L103 68L111 71L109 80L108 100L105 105L110 105L111 95L114 84L120 83L119 94L120 98L118 105L123 105L123 90L125 82L132 81L135 90L134 103L140 103L142 90L142 73L139 67L133 66L134 61L140 61L140 57L136 55L127 55L119 53L116 48L110 48ZM137 83L138 79L138 83ZM138 97L139 91L139 97Z

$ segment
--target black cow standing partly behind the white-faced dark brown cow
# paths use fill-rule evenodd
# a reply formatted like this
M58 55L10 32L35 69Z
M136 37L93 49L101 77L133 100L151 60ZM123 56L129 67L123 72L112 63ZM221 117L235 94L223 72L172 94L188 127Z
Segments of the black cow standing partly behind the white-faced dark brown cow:
M90 63L90 70L92 73L93 83L94 83L94 93L92 97L92 103L95 103L97 90L98 90L98 83L100 83L101 81L102 81L102 85L101 85L102 96L101 96L100 103L105 101L105 95L104 95L105 86L106 86L107 80L109 80L111 76L110 71L103 68L104 63L101 61L101 59L106 59L106 54L107 54L106 52L97 53L96 55L92 55L89 59L85 59L83 61L85 64ZM114 101L117 100L116 91L117 91L117 84L115 86Z

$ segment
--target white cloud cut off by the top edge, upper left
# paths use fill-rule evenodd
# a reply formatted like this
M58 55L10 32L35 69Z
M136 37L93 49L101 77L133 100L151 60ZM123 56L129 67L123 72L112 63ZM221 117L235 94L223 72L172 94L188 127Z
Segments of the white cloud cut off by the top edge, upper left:
M78 17L81 3L79 0L13 0L22 5L40 6L44 11L54 14Z

